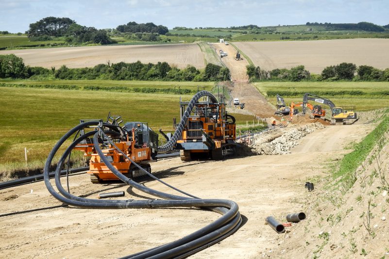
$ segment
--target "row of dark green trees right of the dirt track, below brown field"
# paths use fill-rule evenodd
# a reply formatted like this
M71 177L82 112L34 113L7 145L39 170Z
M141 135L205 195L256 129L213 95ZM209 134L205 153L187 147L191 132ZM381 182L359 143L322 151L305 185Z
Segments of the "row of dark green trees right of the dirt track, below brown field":
M353 63L327 66L320 75L311 75L304 65L273 70L254 65L247 65L246 68L251 81L389 81L389 68L381 70L370 65L357 67Z

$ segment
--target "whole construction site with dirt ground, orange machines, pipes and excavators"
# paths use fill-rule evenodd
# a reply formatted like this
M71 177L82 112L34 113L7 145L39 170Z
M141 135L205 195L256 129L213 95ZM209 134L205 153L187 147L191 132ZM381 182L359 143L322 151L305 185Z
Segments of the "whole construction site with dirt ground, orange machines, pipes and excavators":
M221 84L231 99L199 90L174 100L169 132L85 113L42 175L0 183L2 258L389 257L386 109L309 92L272 104L239 50L211 45L230 69ZM240 131L231 113L264 129ZM343 189L329 172L378 129ZM84 167L71 166L72 152Z

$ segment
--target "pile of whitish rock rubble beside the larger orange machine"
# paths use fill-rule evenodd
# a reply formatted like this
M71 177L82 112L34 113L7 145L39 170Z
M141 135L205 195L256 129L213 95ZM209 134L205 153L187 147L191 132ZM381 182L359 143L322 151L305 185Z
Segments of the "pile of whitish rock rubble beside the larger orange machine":
M323 129L325 126L321 123L312 123L302 127L285 128L284 131L269 130L264 134L254 136L254 145L246 146L245 151L255 155L282 155L290 153L290 149L298 145L297 140L305 135ZM250 149L250 150L247 150Z

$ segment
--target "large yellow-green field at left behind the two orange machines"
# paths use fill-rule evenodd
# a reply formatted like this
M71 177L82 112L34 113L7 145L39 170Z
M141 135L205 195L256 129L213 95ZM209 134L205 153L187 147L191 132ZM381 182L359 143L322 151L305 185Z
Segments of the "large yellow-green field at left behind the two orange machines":
M12 87L0 87L0 95L0 175L42 168L55 142L80 119L105 119L111 112L125 122L148 122L158 131L172 129L173 117L180 115L178 95ZM240 124L253 119L234 115ZM24 147L31 149L28 165Z

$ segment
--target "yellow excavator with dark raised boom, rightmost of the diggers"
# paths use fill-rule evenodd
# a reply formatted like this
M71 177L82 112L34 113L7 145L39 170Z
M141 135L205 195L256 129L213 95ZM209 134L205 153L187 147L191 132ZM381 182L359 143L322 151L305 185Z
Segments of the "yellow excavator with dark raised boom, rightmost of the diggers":
M303 97L303 103L302 103L303 115L305 115L306 107L311 109L310 106L312 106L312 105L310 105L310 106L308 105L309 104L308 100L328 105L331 108L331 124L332 125L335 125L337 122L338 123L341 122L342 124L345 124L347 120L354 120L354 122L358 120L356 113L354 112L355 106L337 107L331 100L329 100L327 98L323 98L323 97L318 97L318 96L315 96L315 95L309 94L309 93L306 93ZM321 106L317 107L315 105L313 107L313 109L311 109L311 110L312 110L312 115L314 115L314 114L319 115L318 114L319 110L321 110L321 113L323 113Z

